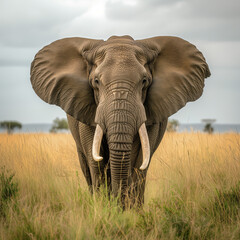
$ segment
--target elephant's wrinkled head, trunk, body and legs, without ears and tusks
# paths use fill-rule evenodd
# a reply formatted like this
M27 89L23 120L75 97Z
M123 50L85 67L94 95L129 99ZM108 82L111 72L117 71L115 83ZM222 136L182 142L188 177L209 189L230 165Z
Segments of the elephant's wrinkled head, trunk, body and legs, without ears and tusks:
M141 64L145 59L137 59L132 47L117 45L103 49L104 58L99 57L97 67L90 75L90 79L97 82L93 81L92 84L98 104L95 121L105 133L100 154L103 161L96 162L92 157L95 127L87 126L69 115L68 123L89 186L98 188L104 183L104 170L107 169L107 182L113 193L117 194L120 187L125 192L132 185L133 189L129 190L136 195L133 199L137 198L141 204L147 170L139 170L142 151L138 129L146 121L143 103L151 73ZM167 119L147 127L151 157L164 135L166 124Z

